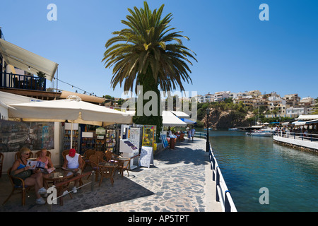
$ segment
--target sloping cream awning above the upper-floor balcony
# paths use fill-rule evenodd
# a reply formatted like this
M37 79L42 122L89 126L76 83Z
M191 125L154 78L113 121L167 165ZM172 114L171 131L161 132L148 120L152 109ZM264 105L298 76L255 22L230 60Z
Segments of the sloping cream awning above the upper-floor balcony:
M0 52L7 64L11 64L18 69L28 71L35 75L37 72L42 71L49 81L52 81L57 71L57 63L34 54L33 52L29 52L6 40L0 39Z

